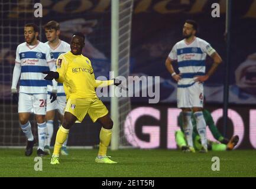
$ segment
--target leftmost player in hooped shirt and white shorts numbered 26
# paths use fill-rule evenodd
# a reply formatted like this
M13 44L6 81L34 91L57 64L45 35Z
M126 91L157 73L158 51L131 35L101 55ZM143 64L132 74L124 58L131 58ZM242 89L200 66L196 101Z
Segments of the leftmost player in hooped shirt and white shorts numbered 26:
M56 71L53 54L48 45L37 40L39 30L35 24L26 24L24 27L25 42L18 45L16 51L15 67L12 76L12 99L18 102L18 114L22 132L27 136L25 155L33 153L35 139L31 132L29 121L30 113L35 114L38 128L37 155L46 155L44 142L46 139L46 105L47 81L42 71ZM21 77L20 77L21 76ZM20 92L17 84L20 79ZM51 96L56 95L57 82L53 82Z

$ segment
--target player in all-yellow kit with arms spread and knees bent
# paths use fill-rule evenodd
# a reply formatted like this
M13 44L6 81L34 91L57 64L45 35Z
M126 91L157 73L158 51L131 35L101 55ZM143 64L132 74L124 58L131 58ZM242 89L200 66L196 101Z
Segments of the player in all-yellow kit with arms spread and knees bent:
M70 48L71 51L61 54L57 61L57 71L44 71L47 74L44 79L55 79L63 83L67 96L67 105L64 113L64 120L57 131L51 164L59 164L60 148L66 140L71 126L78 120L82 122L88 113L93 122L99 120L102 125L99 134L99 153L95 159L97 163L115 164L106 156L106 151L111 141L113 121L109 117L108 109L99 100L95 87L119 86L121 81L95 80L92 64L89 58L82 55L82 48L85 46L85 37L82 33L73 34Z

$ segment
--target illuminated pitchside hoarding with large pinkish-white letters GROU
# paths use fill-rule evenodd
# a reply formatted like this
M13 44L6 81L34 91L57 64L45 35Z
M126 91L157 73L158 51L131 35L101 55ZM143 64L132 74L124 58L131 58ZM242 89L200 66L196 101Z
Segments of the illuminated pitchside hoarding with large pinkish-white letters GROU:
M206 108L222 133L222 108ZM129 144L136 148L176 149L175 131L179 128L177 117L180 109L173 105L135 105L124 123L124 135ZM227 138L239 136L235 148L256 149L256 106L231 106L228 110ZM206 129L210 141L216 141Z

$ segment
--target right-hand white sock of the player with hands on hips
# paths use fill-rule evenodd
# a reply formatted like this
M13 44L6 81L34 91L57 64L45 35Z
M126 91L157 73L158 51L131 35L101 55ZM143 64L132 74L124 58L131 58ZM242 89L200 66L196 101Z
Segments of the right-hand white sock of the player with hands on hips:
M203 112L195 112L194 115L196 118L197 132L201 138L201 144L207 149L206 123L205 118L203 118Z

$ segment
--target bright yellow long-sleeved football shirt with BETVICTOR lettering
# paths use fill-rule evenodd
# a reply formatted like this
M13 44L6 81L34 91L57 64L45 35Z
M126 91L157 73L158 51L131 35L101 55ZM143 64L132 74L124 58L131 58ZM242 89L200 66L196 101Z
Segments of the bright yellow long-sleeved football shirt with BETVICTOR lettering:
M89 58L74 55L70 51L61 54L57 61L57 82L64 84L67 99L98 98L95 87L114 84L114 80L95 80L92 64Z

